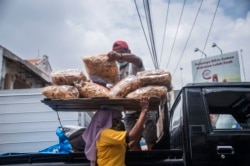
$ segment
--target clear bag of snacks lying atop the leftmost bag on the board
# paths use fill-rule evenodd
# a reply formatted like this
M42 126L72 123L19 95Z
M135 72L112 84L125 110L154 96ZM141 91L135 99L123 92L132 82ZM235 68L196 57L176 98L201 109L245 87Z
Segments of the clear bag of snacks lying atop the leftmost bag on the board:
M52 71L50 77L56 85L74 85L75 82L87 80L87 77L80 69Z

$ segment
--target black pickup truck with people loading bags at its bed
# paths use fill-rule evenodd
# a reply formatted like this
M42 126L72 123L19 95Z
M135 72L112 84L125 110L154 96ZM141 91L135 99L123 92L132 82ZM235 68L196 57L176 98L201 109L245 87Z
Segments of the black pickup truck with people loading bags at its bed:
M250 165L249 82L187 84L170 110L167 104L159 107L158 123L159 140L153 150L128 151L127 166ZM89 162L83 153L23 153L0 156L0 165L4 164L89 165Z

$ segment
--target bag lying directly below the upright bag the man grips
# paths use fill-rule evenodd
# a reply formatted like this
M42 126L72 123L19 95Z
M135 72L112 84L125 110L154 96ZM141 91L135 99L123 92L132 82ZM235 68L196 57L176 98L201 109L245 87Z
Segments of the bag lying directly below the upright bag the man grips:
M75 87L79 90L80 97L82 98L110 96L108 88L94 82L82 82L75 84Z

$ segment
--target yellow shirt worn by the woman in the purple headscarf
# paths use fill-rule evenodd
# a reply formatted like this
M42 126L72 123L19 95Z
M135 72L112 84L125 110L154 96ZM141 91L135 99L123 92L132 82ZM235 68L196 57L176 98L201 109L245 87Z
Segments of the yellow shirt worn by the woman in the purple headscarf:
M126 131L104 129L96 149L98 166L125 166Z

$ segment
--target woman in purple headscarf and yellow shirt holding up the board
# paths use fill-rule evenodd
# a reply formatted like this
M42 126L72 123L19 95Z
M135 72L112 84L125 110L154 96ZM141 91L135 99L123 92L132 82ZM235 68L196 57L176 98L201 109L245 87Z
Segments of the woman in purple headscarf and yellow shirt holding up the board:
M127 143L141 137L149 98L141 98L140 106L140 116L130 132L125 131L119 107L110 106L95 113L83 134L85 155L91 166L125 166Z

